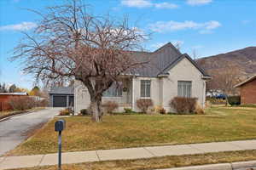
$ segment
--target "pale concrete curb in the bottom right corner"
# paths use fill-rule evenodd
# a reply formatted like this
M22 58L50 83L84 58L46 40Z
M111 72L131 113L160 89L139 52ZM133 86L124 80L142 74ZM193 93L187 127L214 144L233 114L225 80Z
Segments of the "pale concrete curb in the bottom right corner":
M253 170L256 169L256 161L238 161L231 163L218 163L218 164L209 164L193 167L174 167L167 169L155 169L155 170Z

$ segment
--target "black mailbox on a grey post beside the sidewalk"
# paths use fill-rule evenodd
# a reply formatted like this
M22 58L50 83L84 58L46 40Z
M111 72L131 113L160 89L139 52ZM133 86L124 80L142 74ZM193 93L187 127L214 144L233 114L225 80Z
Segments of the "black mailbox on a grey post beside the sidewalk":
M58 169L61 170L61 132L64 130L66 127L66 122L65 120L61 119L55 122L55 132L59 132L59 137L58 137L58 145L59 145L59 154L58 154Z

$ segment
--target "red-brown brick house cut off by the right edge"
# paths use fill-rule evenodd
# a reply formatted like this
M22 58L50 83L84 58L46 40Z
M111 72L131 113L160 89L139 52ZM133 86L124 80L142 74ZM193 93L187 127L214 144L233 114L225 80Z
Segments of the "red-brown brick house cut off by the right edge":
M256 75L235 86L240 88L241 104L256 104Z

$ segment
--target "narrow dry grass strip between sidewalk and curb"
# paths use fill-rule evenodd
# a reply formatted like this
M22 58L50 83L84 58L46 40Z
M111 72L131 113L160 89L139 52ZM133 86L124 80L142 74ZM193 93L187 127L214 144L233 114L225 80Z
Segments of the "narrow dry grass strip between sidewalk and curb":
M252 161L255 159L256 150L243 150L190 156L164 156L138 160L86 162L79 164L63 165L62 170L145 170L170 167L186 167L233 161ZM20 168L20 170L55 169L57 169L57 166Z

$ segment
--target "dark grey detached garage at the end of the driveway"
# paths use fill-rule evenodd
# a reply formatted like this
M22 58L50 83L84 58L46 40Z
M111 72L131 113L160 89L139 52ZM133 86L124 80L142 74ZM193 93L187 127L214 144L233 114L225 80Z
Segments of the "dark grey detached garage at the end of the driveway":
M49 91L50 107L73 106L73 87L53 87Z

